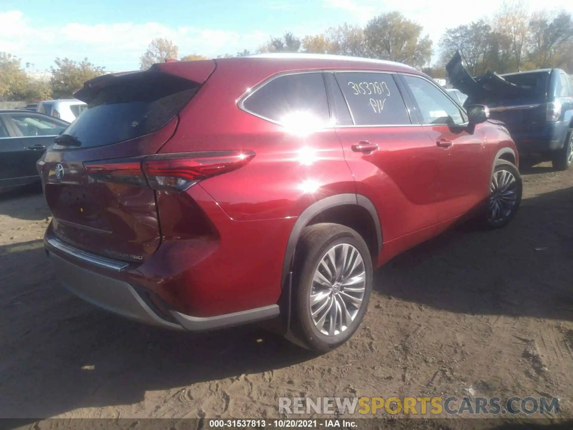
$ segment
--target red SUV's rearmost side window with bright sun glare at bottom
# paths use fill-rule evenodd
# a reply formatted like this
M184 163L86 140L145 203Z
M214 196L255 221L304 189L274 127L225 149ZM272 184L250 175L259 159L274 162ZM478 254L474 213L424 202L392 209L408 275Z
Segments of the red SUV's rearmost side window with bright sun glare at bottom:
M322 73L278 76L243 100L242 107L278 123L301 116L310 116L324 124L330 119Z

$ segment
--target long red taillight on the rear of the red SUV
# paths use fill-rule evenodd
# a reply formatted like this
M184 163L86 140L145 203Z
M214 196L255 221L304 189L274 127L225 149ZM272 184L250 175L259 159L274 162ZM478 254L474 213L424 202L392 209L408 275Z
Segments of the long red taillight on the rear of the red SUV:
M252 151L160 154L85 162L84 167L92 178L100 181L185 191L202 179L239 169L254 155Z

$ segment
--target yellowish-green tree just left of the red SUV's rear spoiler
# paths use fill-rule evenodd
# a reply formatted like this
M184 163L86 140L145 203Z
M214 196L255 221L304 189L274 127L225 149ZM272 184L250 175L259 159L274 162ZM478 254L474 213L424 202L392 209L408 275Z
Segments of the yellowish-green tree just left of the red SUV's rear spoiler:
M87 57L81 62L69 58L56 58L54 62L56 67L50 68L52 71L50 83L53 95L58 99L73 97L73 92L83 87L85 81L105 73L103 67L93 65Z

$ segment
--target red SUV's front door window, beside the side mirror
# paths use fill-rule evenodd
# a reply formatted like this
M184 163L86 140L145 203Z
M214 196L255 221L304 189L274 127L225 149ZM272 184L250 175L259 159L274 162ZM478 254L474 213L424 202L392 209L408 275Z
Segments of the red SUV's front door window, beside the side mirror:
M438 87L418 76L403 77L418 104L423 124L464 124L460 109Z

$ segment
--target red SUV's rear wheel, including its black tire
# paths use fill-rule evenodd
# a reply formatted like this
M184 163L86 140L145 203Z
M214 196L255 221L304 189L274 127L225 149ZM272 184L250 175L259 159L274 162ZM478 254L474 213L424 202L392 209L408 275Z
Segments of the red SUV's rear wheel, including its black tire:
M343 259L345 249L347 257ZM329 255L339 271L335 272ZM315 275L320 283L313 280ZM349 279L355 282L351 284ZM360 234L339 224L305 228L295 251L293 272L291 332L296 343L314 351L342 345L362 322L371 290L372 258ZM311 294L316 298L312 311ZM312 312L316 312L314 318Z

